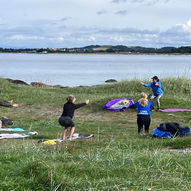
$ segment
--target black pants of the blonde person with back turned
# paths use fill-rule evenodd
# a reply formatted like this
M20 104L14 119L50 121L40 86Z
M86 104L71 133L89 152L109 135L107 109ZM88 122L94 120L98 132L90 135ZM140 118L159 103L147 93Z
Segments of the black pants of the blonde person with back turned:
M143 126L145 128L145 133L148 133L150 124L151 124L150 115L138 115L137 116L138 133L142 132Z

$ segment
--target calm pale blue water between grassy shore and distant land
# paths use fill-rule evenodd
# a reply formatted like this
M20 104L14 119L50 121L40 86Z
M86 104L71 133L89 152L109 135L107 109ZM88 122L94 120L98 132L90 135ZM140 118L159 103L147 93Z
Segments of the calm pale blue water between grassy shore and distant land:
M64 86L114 78L191 77L191 56L0 54L0 77Z

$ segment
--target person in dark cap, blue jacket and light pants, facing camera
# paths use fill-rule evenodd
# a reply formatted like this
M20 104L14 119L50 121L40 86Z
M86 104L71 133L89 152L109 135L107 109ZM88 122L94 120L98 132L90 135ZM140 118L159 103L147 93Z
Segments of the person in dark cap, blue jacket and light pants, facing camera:
M152 80L153 82L151 82L150 84L145 84L144 82L141 82L141 84L145 87L152 88L151 103L153 104L154 99L156 99L157 110L160 111L160 98L163 95L162 84L157 76L154 76ZM154 104L153 104L153 109L154 109Z

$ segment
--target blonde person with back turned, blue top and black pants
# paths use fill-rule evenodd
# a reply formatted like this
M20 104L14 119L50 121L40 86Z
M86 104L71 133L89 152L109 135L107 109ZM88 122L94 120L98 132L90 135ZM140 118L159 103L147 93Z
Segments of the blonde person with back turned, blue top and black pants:
M142 132L143 126L145 128L145 133L149 133L149 127L151 123L150 109L153 105L147 99L146 93L141 93L141 99L134 104L134 107L137 109L137 126L138 133Z

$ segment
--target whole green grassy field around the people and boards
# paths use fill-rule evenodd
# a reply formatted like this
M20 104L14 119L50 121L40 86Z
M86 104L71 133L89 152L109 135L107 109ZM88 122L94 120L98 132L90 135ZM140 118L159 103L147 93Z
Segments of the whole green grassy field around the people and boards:
M191 81L163 79L162 108L191 108ZM117 97L139 98L150 94L137 80L79 88L17 87L0 79L1 99L13 99L19 108L0 109L0 116L14 120L14 127L38 131L24 140L0 140L0 190L18 191L189 191L191 155L170 152L190 148L191 136L162 140L152 130L162 122L190 126L191 114L153 112L150 135L138 135L136 110L103 111L101 106ZM93 133L88 140L56 145L40 139L60 137L57 119L68 94L90 104L76 111L76 132Z

